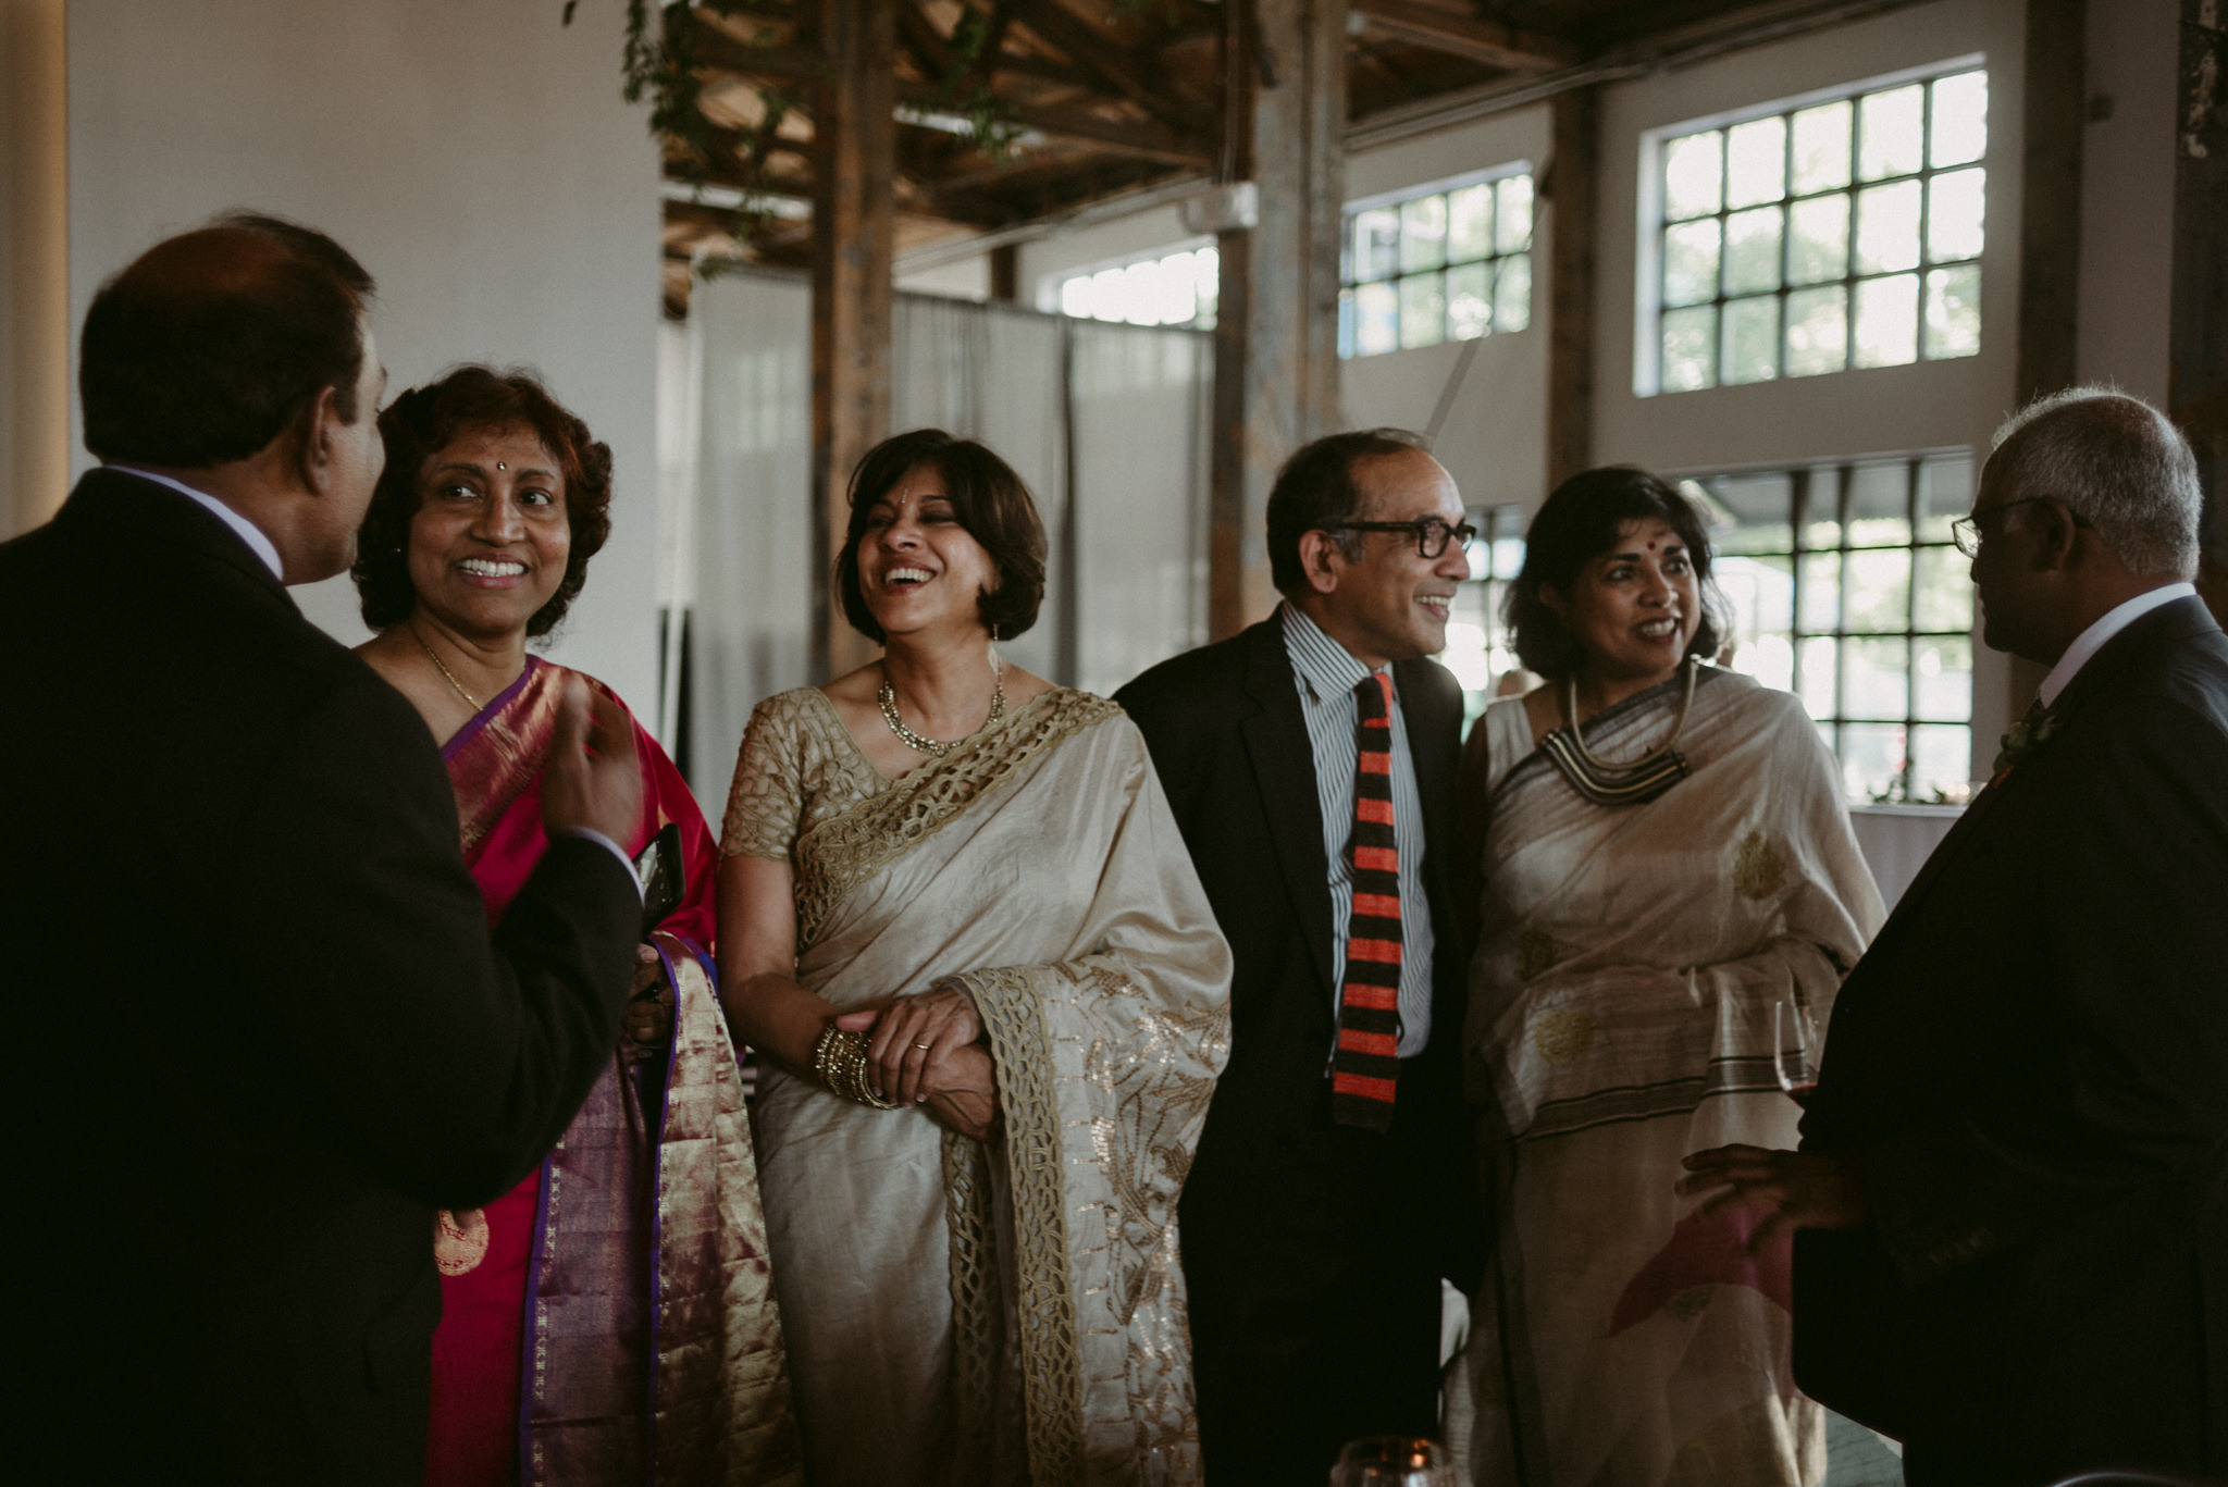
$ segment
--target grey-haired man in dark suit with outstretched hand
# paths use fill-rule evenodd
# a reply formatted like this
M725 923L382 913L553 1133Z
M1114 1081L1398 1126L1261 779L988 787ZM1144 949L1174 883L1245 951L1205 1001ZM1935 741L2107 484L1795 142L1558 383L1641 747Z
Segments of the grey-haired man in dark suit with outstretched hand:
M1987 644L2050 676L1843 985L1800 1153L1796 1380L1914 1487L2228 1471L2228 640L2152 408L2045 399L1972 517Z

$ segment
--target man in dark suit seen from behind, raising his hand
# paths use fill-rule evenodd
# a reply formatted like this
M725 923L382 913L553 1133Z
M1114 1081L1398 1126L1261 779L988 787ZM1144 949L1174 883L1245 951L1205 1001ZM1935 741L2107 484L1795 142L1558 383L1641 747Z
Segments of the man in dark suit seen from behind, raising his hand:
M426 725L283 589L383 464L370 292L272 218L152 247L85 319L105 466L0 546L16 1480L423 1480L434 1208L613 1057L624 722L566 700L490 936Z

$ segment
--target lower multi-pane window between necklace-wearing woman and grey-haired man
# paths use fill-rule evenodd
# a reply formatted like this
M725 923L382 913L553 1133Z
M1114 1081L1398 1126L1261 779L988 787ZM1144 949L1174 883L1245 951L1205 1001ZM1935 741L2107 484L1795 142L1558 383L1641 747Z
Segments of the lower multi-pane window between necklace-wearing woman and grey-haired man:
M1963 453L1704 475L1713 575L1733 606L1720 660L1802 698L1851 800L1965 800L1972 577L1950 535Z

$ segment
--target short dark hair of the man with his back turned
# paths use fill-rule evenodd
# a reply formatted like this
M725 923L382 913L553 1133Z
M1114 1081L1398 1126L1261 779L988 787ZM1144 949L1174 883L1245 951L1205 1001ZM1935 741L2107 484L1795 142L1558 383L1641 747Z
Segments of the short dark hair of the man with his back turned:
M354 424L372 276L323 232L254 212L143 252L78 341L85 448L207 470L247 459L334 390Z

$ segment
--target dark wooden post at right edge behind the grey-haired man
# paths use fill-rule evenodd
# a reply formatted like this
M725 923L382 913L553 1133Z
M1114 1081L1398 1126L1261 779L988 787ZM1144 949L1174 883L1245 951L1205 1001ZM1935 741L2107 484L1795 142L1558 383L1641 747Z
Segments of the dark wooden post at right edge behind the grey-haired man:
M2199 584L2228 613L2228 9L2181 0L2181 87L2175 109L2175 299L2166 408L2197 450L2206 488Z

